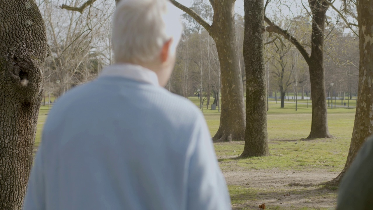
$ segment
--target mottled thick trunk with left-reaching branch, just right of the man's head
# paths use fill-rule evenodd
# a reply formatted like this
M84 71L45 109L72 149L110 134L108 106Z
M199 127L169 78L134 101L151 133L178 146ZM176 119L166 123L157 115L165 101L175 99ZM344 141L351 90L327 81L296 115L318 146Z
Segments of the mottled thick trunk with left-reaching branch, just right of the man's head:
M213 23L211 25L188 7L175 0L170 1L201 24L216 43L222 80L222 110L220 126L213 140L244 140L245 109L238 60L238 45L236 43L235 0L210 0L214 10Z

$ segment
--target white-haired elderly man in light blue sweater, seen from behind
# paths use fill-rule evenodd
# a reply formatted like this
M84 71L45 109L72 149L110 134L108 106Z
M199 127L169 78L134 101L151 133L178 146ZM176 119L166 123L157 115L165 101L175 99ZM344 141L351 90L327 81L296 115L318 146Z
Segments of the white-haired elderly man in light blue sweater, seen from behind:
M117 5L116 65L54 105L24 210L231 209L203 115L163 88L182 30L168 4Z

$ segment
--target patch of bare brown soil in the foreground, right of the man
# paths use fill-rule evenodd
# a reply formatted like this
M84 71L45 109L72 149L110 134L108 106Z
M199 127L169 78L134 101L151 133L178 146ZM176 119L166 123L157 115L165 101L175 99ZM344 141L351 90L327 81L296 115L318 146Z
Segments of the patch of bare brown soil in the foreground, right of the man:
M233 204L235 210L242 208L258 209L258 204L266 203L279 209L301 209L302 207L334 209L335 189L318 185L336 177L338 173L325 171L299 172L273 170L245 170L223 172L228 185L254 188L256 197L244 204ZM291 183L297 183L289 185ZM299 186L301 185L301 186Z

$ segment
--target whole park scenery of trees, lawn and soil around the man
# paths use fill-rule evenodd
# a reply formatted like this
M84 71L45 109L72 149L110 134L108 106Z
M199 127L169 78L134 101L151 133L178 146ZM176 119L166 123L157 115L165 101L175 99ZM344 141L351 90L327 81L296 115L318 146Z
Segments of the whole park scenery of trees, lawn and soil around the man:
M22 5L13 12L41 14L29 15L33 24L8 24L30 31L18 31L24 38L11 41L9 30L1 30L9 13L0 9L0 55L6 58L0 57L0 72L10 68L16 76L0 75L0 177L17 180L10 191L0 182L0 209L21 209L54 102L114 63L111 18L119 1L0 0L4 8ZM373 129L373 31L361 30L362 24L373 28L366 21L372 5L170 2L185 30L165 88L203 112L232 208L335 209L339 182ZM37 57L17 51L29 42L38 46Z

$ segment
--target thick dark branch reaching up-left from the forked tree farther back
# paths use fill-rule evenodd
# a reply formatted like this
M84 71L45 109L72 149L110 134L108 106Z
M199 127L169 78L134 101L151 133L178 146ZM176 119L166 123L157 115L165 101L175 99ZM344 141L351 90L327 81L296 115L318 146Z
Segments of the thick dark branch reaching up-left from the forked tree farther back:
M264 21L269 25L267 27L268 32L274 32L276 34L282 35L285 39L289 40L297 49L299 52L302 54L304 57L304 60L309 63L310 62L310 55L308 52L305 50L303 45L291 34L288 33L288 31L283 30L280 28L278 25L274 24L270 19L267 18L267 16L264 16Z

